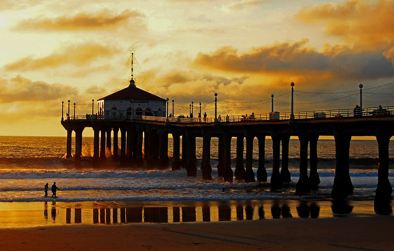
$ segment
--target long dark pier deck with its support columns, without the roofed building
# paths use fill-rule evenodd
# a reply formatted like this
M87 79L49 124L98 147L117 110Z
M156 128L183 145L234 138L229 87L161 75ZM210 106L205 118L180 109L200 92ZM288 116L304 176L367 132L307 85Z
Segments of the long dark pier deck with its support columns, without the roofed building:
M382 114L376 108L363 108L362 114L354 114L353 109L306 111L282 113L275 117L272 113L256 114L253 118L228 116L218 120L208 118L175 118L131 115L122 118L98 118L96 116L68 116L62 118L67 130L67 155L71 157L71 134L75 132L75 165L80 165L82 132L86 127L94 130L93 165L105 165L105 151L113 152L113 159L124 164L147 169L169 167L168 135L173 138L172 170L187 169L187 176L197 173L196 138L203 141L201 170L204 179L212 179L210 166L211 138L218 138L219 176L226 182L233 178L245 182L267 181L264 166L265 137L272 139L271 189L279 189L291 180L288 169L289 139L299 139L299 180L296 193L306 193L317 189L320 183L317 172L317 142L319 136L333 136L335 139L335 177L331 197L343 200L353 192L349 175L349 147L352 136L375 136L379 149L378 185L375 200L390 203L392 186L389 182L389 142L394 135L394 107L386 106ZM168 109L168 100L167 100ZM324 116L322 116L324 114ZM294 118L293 118L294 116ZM113 132L113 139L111 139ZM120 143L118 137L120 133ZM236 166L230 166L230 142L236 138ZM252 170L253 139L259 142L259 166L255 177ZM182 149L180 140L182 138ZM243 142L246 139L246 146ZM142 141L144 140L144 155ZM119 145L120 144L120 145ZM308 176L308 145L310 170ZM246 147L246 156L243 156ZM118 149L120 148L120 156ZM282 159L280 159L282 150ZM182 153L182 155L181 155ZM182 156L182 157L181 157ZM243 162L245 160L245 166Z

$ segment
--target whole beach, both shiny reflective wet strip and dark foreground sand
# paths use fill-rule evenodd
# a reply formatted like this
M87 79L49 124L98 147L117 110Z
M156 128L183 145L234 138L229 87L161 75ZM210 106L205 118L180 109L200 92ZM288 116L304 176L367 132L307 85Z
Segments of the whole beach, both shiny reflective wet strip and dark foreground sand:
M376 214L373 201L12 202L1 208L1 251L389 251L394 245L394 216Z

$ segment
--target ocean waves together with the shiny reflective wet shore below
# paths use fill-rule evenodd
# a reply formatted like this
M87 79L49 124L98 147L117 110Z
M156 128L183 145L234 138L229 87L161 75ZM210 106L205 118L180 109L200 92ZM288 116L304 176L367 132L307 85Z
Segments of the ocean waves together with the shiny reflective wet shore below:
M324 218L372 215L378 181L378 149L373 140L353 140L350 176L354 193L348 202L331 201L335 171L335 143L318 141L318 190L296 195L299 142L290 140L290 184L271 191L272 142L265 141L267 182L224 182L218 177L217 138L211 140L212 180L199 169L202 139L196 140L197 177L185 169L133 169L107 158L105 166L92 167L93 137L83 138L82 163L66 159L66 137L0 136L0 227L27 227L132 222L176 223L226 220ZM72 152L74 152L74 139ZM182 148L181 148L182 149ZM231 140L231 166L235 167L236 138ZM393 153L393 144L390 153ZM172 138L169 138L171 163ZM110 155L110 153L107 153ZM393 158L390 158L393 164ZM253 170L258 167L258 141L254 141ZM394 174L390 173L390 182ZM51 197L51 185L59 188ZM48 197L44 185L49 184Z

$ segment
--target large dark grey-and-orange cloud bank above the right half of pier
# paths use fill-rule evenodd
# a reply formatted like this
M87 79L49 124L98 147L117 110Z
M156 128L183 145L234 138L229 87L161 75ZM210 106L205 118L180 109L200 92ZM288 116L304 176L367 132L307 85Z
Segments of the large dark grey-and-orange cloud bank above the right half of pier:
M377 79L393 77L393 64L383 51L358 52L349 47L325 46L323 52L307 45L308 40L275 43L238 53L223 47L211 54L199 53L195 65L226 72L255 74L329 75L331 79Z

